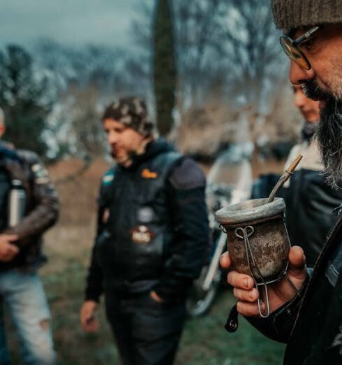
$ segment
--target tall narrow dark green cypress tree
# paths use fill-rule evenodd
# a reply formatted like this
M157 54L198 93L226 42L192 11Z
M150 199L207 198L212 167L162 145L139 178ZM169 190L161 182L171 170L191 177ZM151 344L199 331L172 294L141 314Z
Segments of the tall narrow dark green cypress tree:
M177 82L170 0L156 0L154 22L154 94L158 130L162 136L172 128Z

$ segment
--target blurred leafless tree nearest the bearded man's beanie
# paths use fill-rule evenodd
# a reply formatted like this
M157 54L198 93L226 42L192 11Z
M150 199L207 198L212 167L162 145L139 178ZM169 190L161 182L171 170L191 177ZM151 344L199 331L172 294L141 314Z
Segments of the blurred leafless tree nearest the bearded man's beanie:
M269 0L224 1L222 8L217 46L227 65L230 97L251 113L265 113L287 76Z

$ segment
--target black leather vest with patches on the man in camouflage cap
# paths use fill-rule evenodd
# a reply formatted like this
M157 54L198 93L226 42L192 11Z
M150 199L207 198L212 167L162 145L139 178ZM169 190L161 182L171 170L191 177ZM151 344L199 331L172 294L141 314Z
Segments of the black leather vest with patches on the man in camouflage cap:
M114 169L105 192L110 214L96 244L105 291L141 292L161 278L174 238L166 186L181 156L162 152L135 169Z

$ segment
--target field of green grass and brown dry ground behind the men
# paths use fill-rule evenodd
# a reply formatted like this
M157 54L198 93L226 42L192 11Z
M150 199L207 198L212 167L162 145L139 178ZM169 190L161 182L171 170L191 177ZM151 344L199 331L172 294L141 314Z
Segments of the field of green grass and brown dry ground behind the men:
M80 166L77 160L61 162L50 169L50 174L53 180L57 180L77 171ZM98 313L101 320L98 334L84 334L79 324L84 278L94 238L95 198L99 178L106 168L105 162L97 161L84 175L57 185L61 217L45 236L45 252L50 262L41 274L52 310L59 365L119 364L103 309ZM223 329L233 303L230 290L223 291L209 315L188 320L181 338L177 365L281 364L284 345L264 338L243 318L240 318L235 334L228 334ZM9 337L14 364L20 365L22 362L12 329Z

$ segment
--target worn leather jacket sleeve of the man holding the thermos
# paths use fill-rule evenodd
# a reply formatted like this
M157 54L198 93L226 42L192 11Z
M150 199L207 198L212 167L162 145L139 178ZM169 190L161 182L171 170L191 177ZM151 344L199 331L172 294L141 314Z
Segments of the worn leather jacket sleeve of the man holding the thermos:
M58 194L45 166L34 152L26 152L24 160L29 176L29 213L15 227L6 230L19 236L19 247L29 244L32 237L43 234L57 221L59 214Z

